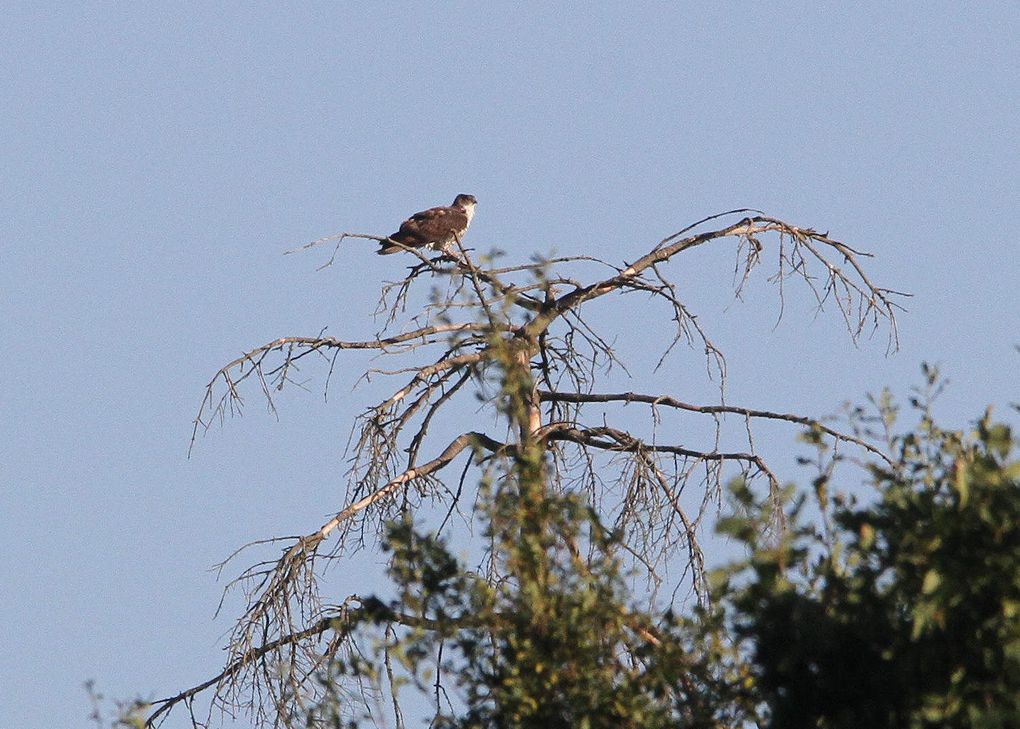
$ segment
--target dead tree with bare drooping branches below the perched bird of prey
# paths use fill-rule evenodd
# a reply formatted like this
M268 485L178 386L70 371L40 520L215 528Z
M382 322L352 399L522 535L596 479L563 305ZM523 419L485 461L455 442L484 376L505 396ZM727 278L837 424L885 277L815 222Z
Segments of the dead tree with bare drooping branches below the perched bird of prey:
M723 215L745 217L696 232ZM339 247L349 238L381 240L343 233L323 241L335 240ZM256 562L231 581L227 589L243 591L245 610L230 633L225 666L209 680L156 701L149 725L158 725L175 708L187 708L193 724L204 725L208 715L200 720L194 705L208 693L210 712L218 708L230 715L247 713L259 726L289 726L292 718L284 707L314 694L315 672L338 652L351 648L344 625L362 610L356 593L338 601L336 595L320 592L324 565L370 543L382 521L425 498L448 510L444 526L454 510L469 513L469 469L505 458L524 437L536 439L546 450L550 488L586 493L606 522L625 535L626 551L650 579L659 580L657 568L679 556L685 568L679 579L686 579L702 600L706 588L699 525L724 480L743 476L768 492L778 489L777 475L755 448L755 423L775 421L810 428L835 447L860 449L885 459L853 429L840 430L802 415L733 405L721 395L719 402L702 404L685 402L677 393L600 389L602 375L617 362L617 356L591 321L589 306L609 295L630 293L658 302L671 318L672 330L655 343L663 357L677 344L702 349L710 369L724 379L722 352L670 277L674 259L708 244L730 245L735 250L737 295L752 273L771 261L768 280L777 288L780 307L785 285L799 281L819 309L829 305L838 311L855 342L884 328L887 349L897 348L895 314L900 307L896 301L905 295L871 282L862 266L868 254L827 233L758 211L737 210L669 236L632 263L574 256L498 266L472 257L459 245L458 250L436 258L408 249L417 261L403 279L382 287L378 314L385 323L375 339L285 336L225 364L206 388L195 436L236 412L246 388L260 390L269 407L274 407L274 393L293 381L298 367L309 359L324 361L323 369L332 373L345 351L372 350L395 366L368 370L365 376L390 377L397 384L355 424L345 503L337 505L335 516L325 523L291 539L282 553ZM580 279L574 273L577 269L588 270L589 278ZM442 294L408 314L412 292L425 285L440 285ZM438 441L431 430L443 413L456 407L457 400L480 395L483 407L494 407L495 412L499 388L491 386L491 377L497 352L513 353L533 373L537 386L527 418L530 432L506 428L487 432L477 427ZM681 432L660 431L654 438L642 437L611 419L618 412L615 406L626 405L648 408L653 418L666 410L703 416L713 424L716 435L700 447ZM744 448L720 448L719 432L727 416L746 433ZM492 419L479 416L477 422ZM700 489L699 508L688 511L684 507L680 494L685 489L688 494ZM256 543L275 549L277 541ZM227 562L233 564L239 553L248 554L246 550L242 548ZM404 619L408 625L420 626L422 621L415 616Z

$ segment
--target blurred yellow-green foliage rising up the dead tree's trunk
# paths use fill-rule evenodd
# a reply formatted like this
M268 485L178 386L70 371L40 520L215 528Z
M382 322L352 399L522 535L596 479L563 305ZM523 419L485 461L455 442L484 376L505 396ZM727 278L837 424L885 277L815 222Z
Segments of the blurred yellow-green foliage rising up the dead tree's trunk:
M367 601L356 632L387 627L371 655L335 663L327 686L354 677L381 694L384 674L399 683L390 678L396 661L435 696L437 727L734 725L740 701L728 687L749 676L719 673L734 664L722 660L731 652L722 633L703 643L693 621L630 605L616 535L580 498L547 485L543 448L526 428L528 370L512 353L502 367L505 412L521 440L478 498L501 577L470 572L409 519L391 524L385 549L398 595ZM393 704L399 715L396 694ZM374 723L371 713L351 717L336 694L311 718Z

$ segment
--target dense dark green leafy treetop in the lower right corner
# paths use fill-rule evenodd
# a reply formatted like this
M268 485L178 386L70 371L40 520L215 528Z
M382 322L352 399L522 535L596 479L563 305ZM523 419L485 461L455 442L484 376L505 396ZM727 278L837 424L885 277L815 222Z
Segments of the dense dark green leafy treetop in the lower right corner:
M871 467L874 502L823 504L834 533L803 500L777 544L762 537L767 515L722 524L751 555L715 583L767 726L1020 726L1015 440L989 414L965 436L914 405L896 462Z

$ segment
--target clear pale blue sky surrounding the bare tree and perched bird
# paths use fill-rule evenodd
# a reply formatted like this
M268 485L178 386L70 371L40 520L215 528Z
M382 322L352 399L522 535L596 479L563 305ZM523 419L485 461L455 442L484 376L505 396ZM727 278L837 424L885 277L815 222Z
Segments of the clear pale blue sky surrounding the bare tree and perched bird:
M888 358L797 305L773 329L766 289L708 296L732 402L830 413L925 360L951 424L1020 400L1018 38L1015 2L7 4L0 727L86 725L86 679L155 697L218 670L207 568L343 506L356 370L323 402L310 369L278 421L252 393L187 459L220 364L374 331L403 262L282 255L320 236L465 192L476 248L623 261L761 208L915 296ZM722 260L675 265L725 292ZM639 388L654 359L627 354Z

